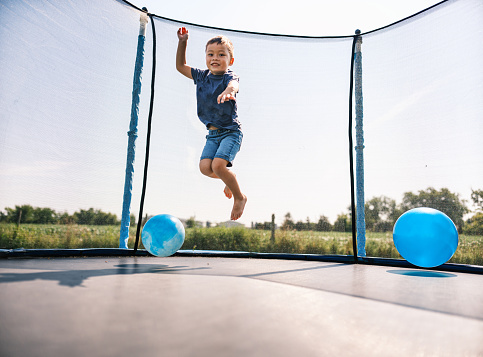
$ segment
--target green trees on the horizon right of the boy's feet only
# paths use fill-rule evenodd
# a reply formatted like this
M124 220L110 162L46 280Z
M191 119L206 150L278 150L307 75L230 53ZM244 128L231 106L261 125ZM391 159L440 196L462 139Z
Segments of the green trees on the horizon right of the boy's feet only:
M466 200L462 200L458 194L447 188L436 190L432 187L420 190L417 193L406 192L402 202L397 204L395 200L379 196L365 202L366 230L369 232L392 231L396 220L406 211L417 207L430 207L445 213L456 225L459 233L470 235L483 235L483 190L472 190L471 199L476 210L471 211ZM331 224L326 216L320 216L317 222L310 219L294 222L290 213L280 227L283 230L319 231L319 232L350 232L352 221L349 213L338 215L334 224ZM464 220L464 216L473 212L473 216ZM254 223L255 229L271 229L271 222Z

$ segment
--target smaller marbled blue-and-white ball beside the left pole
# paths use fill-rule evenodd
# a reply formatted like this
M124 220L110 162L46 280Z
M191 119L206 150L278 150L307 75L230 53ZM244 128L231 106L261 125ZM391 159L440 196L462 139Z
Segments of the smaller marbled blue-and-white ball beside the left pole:
M183 223L169 214L150 218L141 235L144 248L158 257L169 257L176 253L183 245L184 237Z

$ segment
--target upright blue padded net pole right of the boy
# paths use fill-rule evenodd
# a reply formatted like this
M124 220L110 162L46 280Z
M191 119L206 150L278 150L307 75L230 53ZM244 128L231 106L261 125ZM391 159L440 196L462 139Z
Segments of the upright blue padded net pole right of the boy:
M357 254L366 256L366 218L364 200L364 130L362 106L362 37L356 30L354 53L354 96L356 102L356 196L357 196Z

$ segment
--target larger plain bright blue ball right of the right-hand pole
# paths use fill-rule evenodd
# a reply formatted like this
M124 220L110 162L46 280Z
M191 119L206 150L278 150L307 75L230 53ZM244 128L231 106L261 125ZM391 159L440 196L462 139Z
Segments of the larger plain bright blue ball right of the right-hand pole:
M402 214L394 225L393 239L404 259L424 268L446 263L458 248L458 230L453 221L427 207Z

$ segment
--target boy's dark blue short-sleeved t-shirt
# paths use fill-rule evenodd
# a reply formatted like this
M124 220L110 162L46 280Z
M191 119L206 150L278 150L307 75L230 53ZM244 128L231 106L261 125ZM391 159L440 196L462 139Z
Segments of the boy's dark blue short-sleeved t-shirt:
M236 101L228 100L218 104L218 96L232 80L239 82L238 76L230 69L223 75L212 74L208 69L191 68L191 75L196 84L198 118L208 128L210 125L219 129L240 130Z

